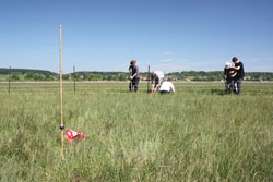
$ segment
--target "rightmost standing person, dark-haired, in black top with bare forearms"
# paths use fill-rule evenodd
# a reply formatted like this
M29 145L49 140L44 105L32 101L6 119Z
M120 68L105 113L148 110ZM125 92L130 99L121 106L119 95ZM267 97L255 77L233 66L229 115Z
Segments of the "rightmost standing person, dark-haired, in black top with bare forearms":
M241 94L241 83L242 83L242 80L245 77L244 64L236 57L233 58L233 62L235 64L233 66L235 69L235 73L232 74L233 90L234 90L234 93L240 95ZM237 87L237 90L236 90L236 87Z

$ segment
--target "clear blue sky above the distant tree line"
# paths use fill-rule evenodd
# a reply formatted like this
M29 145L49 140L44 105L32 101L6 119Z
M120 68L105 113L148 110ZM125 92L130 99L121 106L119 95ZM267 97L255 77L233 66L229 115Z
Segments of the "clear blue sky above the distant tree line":
M0 0L0 68L273 72L272 0Z

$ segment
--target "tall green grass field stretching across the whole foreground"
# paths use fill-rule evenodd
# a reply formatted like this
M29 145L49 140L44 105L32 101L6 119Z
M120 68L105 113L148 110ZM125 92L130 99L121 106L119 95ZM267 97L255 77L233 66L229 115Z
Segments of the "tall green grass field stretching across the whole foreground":
M273 83L63 84L66 129L86 142L61 155L58 83L0 84L0 181L273 181Z

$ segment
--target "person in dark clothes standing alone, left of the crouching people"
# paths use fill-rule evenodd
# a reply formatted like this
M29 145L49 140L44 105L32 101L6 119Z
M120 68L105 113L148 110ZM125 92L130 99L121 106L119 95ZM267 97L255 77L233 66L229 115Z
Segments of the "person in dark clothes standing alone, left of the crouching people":
M130 92L132 92L132 89L134 88L134 92L136 93L139 89L140 71L139 71L139 66L136 65L135 60L132 60L130 62L129 71L131 73L129 89L130 89Z

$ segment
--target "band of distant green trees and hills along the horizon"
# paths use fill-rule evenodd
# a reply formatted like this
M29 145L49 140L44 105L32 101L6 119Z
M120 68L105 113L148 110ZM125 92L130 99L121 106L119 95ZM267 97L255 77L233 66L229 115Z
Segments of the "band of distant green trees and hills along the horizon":
M63 74L64 81L128 81L129 73L126 72L75 72ZM222 71L182 71L167 74L173 81L221 81L223 80ZM58 81L59 74L43 70L26 69L0 69L0 81ZM141 80L147 80L149 73L141 73ZM271 72L247 72L247 81L273 81Z

